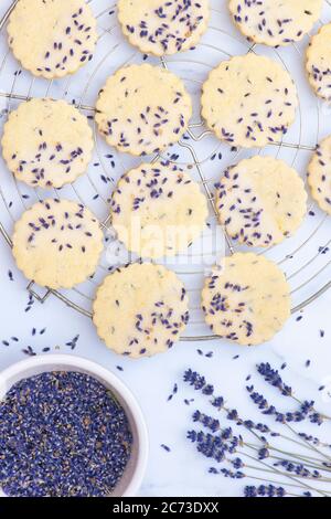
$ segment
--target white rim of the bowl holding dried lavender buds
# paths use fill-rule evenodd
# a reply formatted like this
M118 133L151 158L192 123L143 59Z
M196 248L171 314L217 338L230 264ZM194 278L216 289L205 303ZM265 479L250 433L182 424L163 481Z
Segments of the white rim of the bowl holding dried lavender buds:
M111 385L126 402L136 423L139 445L138 459L134 476L121 497L135 497L141 486L147 468L149 453L148 430L140 405L138 404L132 392L111 371L98 364L97 362L85 359L84 357L75 357L70 354L36 356L31 359L17 362L15 364L0 372L0 401L9 391L8 384L12 378L19 378L22 374L22 380L24 379L24 371L33 368L40 369L42 367L52 364L58 368L61 368L61 366L65 366L72 367L73 369L82 369L89 372L90 375L99 377L100 379L105 380L105 382L109 383L109 385ZM56 371L56 369L54 369L54 371ZM0 497L7 497L1 488Z

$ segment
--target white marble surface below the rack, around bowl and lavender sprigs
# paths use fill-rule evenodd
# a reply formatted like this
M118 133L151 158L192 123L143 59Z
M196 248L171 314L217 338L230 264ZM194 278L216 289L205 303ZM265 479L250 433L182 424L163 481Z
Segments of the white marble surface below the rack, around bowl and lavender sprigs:
M1 0L1 10L2 4L4 8L9 3L7 0ZM2 92L3 87L3 83L0 83ZM308 128L309 119L305 118L305 114L303 120ZM8 174L3 166L0 173L1 177ZM325 241L316 242L313 245L316 248L327 243L330 236L330 219L327 225L323 234ZM330 254L327 253L325 257L329 258ZM9 271L12 273L12 280ZM330 278L330 267L327 275ZM258 361L269 361L275 368L280 368L286 362L284 378L296 388L298 396L316 400L318 409L331 413L331 398L329 396L329 391L331 392L331 292L306 308L301 313L301 320L297 320L298 315L293 316L281 333L260 348L241 349L221 340L202 343L186 342L180 343L166 356L132 362L108 351L98 340L88 318L66 308L52 297L43 306L35 303L30 311L25 313L29 298L25 286L26 279L14 267L10 250L1 239L0 369L23 359L22 350L29 346L36 353L42 353L44 348L50 348L51 352L71 353L71 348L66 343L78 335L77 347L73 353L90 358L115 371L134 391L146 415L150 433L150 458L140 490L141 496L242 495L245 481L233 481L221 476L209 475L207 468L213 464L199 455L185 439L186 431L192 428L192 412L196 407L205 412L212 410L207 402L197 399L181 382L186 368L203 373L211 383L215 384L217 393L227 399L229 406L237 407L245 417L257 421L259 414L245 391L245 379L248 374L254 375L257 381L256 385L259 390L264 389L273 403L279 409L288 409L290 405L278 396L276 390L265 389L265 383L255 373L255 366ZM317 282L316 288L319 286ZM313 286L309 289L312 290ZM41 335L40 331L44 329L45 331ZM12 337L15 337L18 341L11 339ZM6 346L7 341L9 346ZM203 356L197 352L197 349L202 350ZM210 351L213 352L213 357L204 357ZM234 359L236 356L239 358ZM311 360L309 368L306 367L308 359ZM122 368L122 371L119 371L118 367ZM174 383L178 383L178 393L168 402ZM318 391L321 385L325 385L323 392ZM184 404L184 399L193 398L196 401L190 406ZM226 422L222 423L226 424ZM310 431L330 437L330 425L321 428L311 426ZM171 451L166 452L161 447L162 444L169 446Z

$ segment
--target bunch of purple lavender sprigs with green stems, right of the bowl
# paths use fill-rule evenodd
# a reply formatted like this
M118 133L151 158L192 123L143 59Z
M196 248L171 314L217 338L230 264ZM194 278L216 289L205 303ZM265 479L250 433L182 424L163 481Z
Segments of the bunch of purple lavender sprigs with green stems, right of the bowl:
M255 391L254 385L247 385L250 400L264 416L274 419L275 426L244 420L236 410L227 406L223 396L215 394L214 386L204 377L189 369L184 382L209 398L218 417L196 410L193 422L203 428L189 431L188 438L199 453L213 460L211 474L258 481L259 486L250 484L244 488L245 497L331 497L331 444L298 431L295 425L330 424L331 417L319 413L314 402L297 399L269 363L258 364L257 371L285 399L295 402L297 411L280 412ZM221 420L225 422L224 426ZM318 483L322 485L318 486ZM321 488L328 488L328 484L330 490Z

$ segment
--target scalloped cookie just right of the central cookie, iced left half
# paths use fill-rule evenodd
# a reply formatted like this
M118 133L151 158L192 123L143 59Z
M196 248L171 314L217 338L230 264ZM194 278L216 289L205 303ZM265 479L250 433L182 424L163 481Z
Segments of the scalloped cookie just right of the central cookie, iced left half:
M301 225L307 192L297 171L274 157L253 157L226 170L216 208L227 234L248 246L281 243Z

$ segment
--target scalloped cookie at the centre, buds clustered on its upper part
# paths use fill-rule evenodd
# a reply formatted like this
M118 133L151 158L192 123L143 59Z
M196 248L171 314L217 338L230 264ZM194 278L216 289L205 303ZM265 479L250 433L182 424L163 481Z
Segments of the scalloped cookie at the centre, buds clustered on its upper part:
M178 166L143 163L113 194L111 223L129 251L159 258L184 252L206 223L200 187Z

